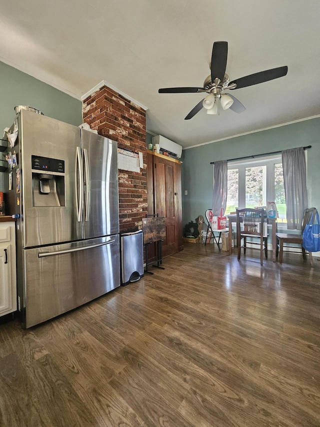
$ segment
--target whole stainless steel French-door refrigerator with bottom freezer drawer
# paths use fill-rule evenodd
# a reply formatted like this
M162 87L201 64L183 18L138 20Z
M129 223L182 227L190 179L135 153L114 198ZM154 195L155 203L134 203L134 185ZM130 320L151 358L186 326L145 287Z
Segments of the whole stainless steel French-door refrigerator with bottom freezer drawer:
M120 285L116 143L21 110L8 188L18 308L30 327Z

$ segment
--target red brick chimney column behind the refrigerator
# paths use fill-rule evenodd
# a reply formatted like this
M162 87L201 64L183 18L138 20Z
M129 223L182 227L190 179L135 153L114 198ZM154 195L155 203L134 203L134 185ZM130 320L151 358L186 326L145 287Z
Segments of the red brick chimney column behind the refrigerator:
M139 173L118 170L120 232L142 228L147 213L145 111L102 86L83 100L82 116L99 135L116 141L118 148L142 152Z

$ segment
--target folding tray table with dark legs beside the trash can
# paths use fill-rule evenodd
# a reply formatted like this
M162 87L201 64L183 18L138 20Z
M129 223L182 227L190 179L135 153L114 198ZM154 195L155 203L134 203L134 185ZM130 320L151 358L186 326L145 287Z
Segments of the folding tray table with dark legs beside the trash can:
M152 267L161 268L164 270L164 267L160 267L162 264L162 242L165 239L165 223L164 218L158 218L156 215L146 215L145 218L142 218L142 230L143 230L143 243L145 245L145 272L153 274L151 271L148 271L148 265ZM148 245L156 242L156 257L155 261L148 263ZM156 265L154 265L156 263Z

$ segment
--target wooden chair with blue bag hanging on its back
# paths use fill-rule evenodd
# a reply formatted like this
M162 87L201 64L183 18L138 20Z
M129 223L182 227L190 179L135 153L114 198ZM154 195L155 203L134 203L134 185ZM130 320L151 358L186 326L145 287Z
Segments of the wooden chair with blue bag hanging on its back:
M283 261L283 252L291 252L291 253L302 253L303 260L306 261L305 249L302 247L302 233L305 225L310 221L312 213L316 212L315 208L307 208L303 212L301 231L297 234L293 233L275 233L276 236L276 251L275 256L277 257L279 254L279 263L282 264ZM291 246L294 244L294 246ZM286 248L290 249L298 249L298 250L286 250ZM311 267L314 266L312 253L308 252L309 261Z

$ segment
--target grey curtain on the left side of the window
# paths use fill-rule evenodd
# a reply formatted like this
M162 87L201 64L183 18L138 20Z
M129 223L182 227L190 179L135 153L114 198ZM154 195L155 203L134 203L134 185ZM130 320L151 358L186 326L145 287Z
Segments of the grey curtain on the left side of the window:
M228 189L228 168L227 161L214 162L213 165L213 198L212 213L219 216L221 208L225 211L226 196Z

